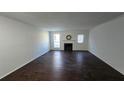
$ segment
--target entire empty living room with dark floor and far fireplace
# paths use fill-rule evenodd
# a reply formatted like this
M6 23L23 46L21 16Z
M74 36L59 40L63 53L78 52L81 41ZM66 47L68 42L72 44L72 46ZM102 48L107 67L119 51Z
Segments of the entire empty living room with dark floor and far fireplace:
M1 81L123 81L123 12L0 12Z

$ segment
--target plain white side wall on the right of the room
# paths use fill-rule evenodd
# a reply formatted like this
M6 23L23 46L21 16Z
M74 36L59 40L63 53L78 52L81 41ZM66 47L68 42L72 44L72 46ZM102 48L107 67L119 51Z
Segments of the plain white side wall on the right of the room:
M124 74L124 17L91 30L89 50Z

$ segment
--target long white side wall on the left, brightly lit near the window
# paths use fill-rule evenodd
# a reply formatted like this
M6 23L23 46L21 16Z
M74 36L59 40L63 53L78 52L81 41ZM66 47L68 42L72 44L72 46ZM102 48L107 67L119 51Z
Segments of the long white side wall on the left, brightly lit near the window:
M0 16L0 78L48 50L48 32Z

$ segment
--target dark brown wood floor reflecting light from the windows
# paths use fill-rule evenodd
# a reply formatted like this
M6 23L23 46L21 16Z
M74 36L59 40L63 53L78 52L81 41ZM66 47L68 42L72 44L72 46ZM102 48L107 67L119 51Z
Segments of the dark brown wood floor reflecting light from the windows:
M124 76L89 52L50 51L1 81L103 81Z

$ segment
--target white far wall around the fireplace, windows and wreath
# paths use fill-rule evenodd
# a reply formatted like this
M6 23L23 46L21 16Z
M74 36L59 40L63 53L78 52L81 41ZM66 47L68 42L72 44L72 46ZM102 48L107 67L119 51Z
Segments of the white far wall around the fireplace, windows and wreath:
M60 33L60 49L64 50L64 43L73 43L73 50L88 50L88 35L89 31L61 31L61 32L50 32L50 40L51 40L51 50L56 50L53 47L53 34ZM77 35L84 34L84 43L79 44L77 43ZM71 40L66 40L66 35L71 35Z

